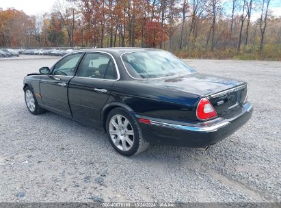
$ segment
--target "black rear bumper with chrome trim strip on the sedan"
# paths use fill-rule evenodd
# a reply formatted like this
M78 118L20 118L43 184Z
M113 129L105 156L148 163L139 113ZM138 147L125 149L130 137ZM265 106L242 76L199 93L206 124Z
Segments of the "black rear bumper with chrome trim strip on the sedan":
M206 148L228 137L242 127L252 116L253 107L245 103L228 118L216 118L207 122L183 123L150 120L150 124L139 123L144 139L152 143Z

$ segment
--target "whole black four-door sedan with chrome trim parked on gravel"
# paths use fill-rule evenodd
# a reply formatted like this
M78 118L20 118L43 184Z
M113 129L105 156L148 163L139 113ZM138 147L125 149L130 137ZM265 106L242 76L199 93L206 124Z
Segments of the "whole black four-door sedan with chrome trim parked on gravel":
M126 156L150 142L207 148L250 119L247 83L196 73L157 49L91 49L62 57L23 83L31 114L45 110L103 127Z

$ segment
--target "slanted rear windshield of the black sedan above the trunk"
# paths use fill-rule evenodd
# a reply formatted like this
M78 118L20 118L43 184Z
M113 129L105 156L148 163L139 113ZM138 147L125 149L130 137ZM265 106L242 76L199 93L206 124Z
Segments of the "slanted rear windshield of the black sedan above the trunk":
M135 79L153 79L185 75L195 70L166 51L136 51L124 53L124 66Z

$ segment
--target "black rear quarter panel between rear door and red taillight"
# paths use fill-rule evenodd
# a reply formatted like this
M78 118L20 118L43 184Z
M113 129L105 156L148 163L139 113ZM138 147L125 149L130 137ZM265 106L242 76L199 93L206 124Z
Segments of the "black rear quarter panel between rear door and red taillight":
M140 116L178 121L196 120L196 106L200 96L173 89L163 89L138 81L113 83L109 102L128 105Z

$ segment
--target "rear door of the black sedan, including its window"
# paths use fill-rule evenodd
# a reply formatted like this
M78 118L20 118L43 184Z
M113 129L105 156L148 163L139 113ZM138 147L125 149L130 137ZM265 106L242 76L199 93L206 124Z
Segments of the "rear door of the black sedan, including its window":
M75 120L92 126L101 124L101 109L109 99L113 82L118 79L116 68L113 57L107 53L85 54L68 89Z

